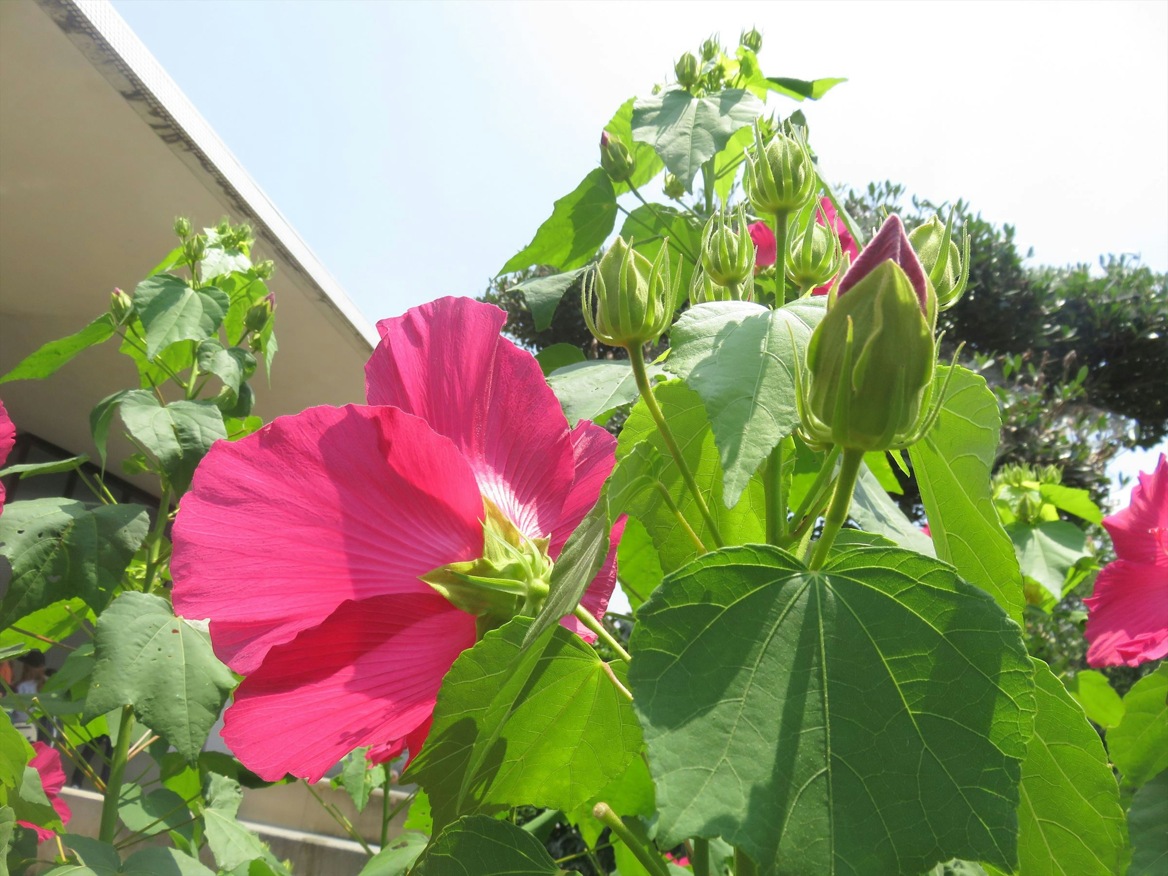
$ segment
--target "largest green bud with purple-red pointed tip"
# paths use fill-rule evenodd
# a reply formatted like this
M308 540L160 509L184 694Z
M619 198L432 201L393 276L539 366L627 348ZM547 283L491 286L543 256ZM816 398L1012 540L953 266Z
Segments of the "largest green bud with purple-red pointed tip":
M848 450L919 440L936 345L929 280L898 216L860 253L834 298L807 345L804 431Z

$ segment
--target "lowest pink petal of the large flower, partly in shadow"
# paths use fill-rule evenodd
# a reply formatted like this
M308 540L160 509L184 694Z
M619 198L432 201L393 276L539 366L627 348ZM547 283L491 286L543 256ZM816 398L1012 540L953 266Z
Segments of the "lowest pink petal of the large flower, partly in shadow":
M437 593L347 602L267 652L235 691L223 739L266 780L318 781L353 749L408 736L443 675L474 645L474 618Z

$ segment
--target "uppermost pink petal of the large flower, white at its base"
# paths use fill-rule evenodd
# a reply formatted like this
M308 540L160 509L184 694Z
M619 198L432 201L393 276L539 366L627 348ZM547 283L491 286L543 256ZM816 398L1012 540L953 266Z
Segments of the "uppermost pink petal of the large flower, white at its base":
M538 363L500 336L506 318L489 304L439 298L382 320L366 397L422 417L454 442L482 494L536 538L559 520L572 446Z

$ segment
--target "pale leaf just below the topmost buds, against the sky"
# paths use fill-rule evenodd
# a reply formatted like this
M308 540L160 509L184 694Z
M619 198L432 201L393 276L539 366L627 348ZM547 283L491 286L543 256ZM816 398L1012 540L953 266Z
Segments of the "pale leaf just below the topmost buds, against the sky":
M633 104L633 139L652 145L669 172L691 190L698 168L762 112L763 102L745 89L708 97L674 89Z

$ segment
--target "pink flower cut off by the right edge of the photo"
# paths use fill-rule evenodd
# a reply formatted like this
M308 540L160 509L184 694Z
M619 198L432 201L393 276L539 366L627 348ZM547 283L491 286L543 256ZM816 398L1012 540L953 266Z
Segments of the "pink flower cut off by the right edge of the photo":
M1139 666L1168 655L1168 458L1140 472L1132 501L1104 517L1114 563L1096 578L1087 606L1087 662Z

